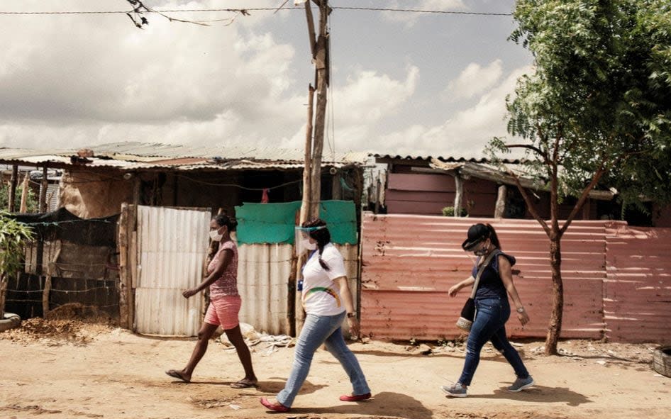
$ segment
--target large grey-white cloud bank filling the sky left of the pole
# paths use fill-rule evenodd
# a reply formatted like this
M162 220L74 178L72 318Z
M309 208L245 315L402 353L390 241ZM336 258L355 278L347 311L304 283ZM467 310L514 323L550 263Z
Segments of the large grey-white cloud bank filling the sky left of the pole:
M123 3L62 1L59 9L118 10ZM269 0L255 4L278 5ZM15 9L44 9L41 1L20 6ZM234 25L209 28L171 23L155 14L148 18L143 30L123 14L4 18L3 32L12 35L0 37L0 85L9 86L0 100L0 145L236 138L261 143L304 123L304 98L290 89L295 82L292 45L278 43L253 25L243 28L243 21L251 19L243 16Z

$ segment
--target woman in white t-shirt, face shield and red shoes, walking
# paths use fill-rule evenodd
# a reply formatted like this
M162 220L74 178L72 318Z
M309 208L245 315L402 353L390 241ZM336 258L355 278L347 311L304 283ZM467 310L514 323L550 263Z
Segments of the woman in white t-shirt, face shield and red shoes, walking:
M296 342L294 364L287 384L277 393L277 401L262 397L261 404L270 410L287 412L308 375L314 352L323 344L338 359L353 386L353 392L340 396L340 400L366 400L370 398L370 389L359 362L345 344L340 327L346 315L350 333L359 334L343 255L331 243L331 233L323 220L310 220L296 229L304 233L303 241L297 242L296 246L309 250L308 261L303 267L305 323Z

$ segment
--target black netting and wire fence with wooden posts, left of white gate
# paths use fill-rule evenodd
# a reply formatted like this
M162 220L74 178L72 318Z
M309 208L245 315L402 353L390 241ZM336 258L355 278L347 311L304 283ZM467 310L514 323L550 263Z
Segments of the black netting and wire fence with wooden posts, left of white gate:
M30 225L26 269L9 280L7 308L21 318L54 311L118 318L118 216L84 220L59 208L44 214L14 214Z

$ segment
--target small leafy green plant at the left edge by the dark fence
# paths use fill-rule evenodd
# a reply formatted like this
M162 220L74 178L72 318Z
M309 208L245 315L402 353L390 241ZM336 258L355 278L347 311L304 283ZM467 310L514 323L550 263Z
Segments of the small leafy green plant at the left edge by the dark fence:
M0 318L5 309L7 279L21 269L23 241L33 238L27 225L8 216L6 211L0 211Z

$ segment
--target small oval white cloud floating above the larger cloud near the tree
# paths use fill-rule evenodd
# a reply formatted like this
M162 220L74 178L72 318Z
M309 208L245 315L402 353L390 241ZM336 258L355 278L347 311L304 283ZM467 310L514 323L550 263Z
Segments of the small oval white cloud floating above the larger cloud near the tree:
M463 69L459 77L450 81L443 97L452 101L470 99L494 86L502 74L503 62L500 59L494 60L487 67L472 62Z

